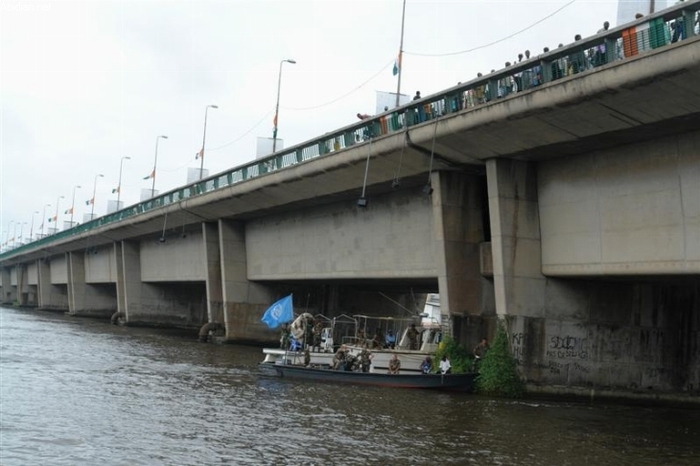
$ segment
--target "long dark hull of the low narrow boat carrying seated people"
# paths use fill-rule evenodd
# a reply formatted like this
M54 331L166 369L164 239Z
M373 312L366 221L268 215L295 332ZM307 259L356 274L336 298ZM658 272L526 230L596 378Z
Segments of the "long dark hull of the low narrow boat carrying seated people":
M392 388L423 388L471 392L476 373L466 374L388 374L379 372L355 372L333 370L327 366L303 366L283 363L262 363L261 371L289 379L305 379L318 382L331 382L353 385L369 385Z

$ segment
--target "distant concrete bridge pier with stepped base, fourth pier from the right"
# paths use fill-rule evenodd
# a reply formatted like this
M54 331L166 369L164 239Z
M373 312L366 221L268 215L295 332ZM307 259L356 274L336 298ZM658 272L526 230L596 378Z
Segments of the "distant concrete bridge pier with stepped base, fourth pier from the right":
M112 296L86 282L85 254L68 253L68 313L71 315L109 317L114 313Z

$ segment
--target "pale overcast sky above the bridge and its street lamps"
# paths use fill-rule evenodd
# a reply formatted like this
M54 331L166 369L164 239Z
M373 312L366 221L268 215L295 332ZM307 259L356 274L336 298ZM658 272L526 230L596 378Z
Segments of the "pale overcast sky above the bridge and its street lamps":
M187 169L199 167L210 104L219 109L209 110L205 168L253 160L256 138L272 136L280 60L297 62L282 72L285 147L374 113L376 91L396 91L401 6L0 1L0 243L20 230L27 238L32 219L36 234L59 196L62 226L76 185L74 220L82 221L98 174L95 213L106 213L125 156L121 199L138 202L151 187L143 178L158 135L168 139L159 142L156 189L185 184ZM616 16L617 0L407 0L401 91L430 95L525 49L593 35Z

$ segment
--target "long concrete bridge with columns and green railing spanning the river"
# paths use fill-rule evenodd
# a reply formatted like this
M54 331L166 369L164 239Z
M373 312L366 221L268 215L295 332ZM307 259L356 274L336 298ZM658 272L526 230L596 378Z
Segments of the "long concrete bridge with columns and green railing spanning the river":
M698 9L6 251L2 300L271 341L260 316L288 293L405 316L438 292L466 345L505 322L534 390L697 395Z

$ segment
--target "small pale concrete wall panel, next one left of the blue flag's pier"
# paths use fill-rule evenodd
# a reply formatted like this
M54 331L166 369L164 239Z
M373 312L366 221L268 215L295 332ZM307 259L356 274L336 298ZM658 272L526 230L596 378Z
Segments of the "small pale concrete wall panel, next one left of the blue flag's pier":
M171 235L165 242L141 241L141 279L145 282L201 281L207 277L201 231Z

